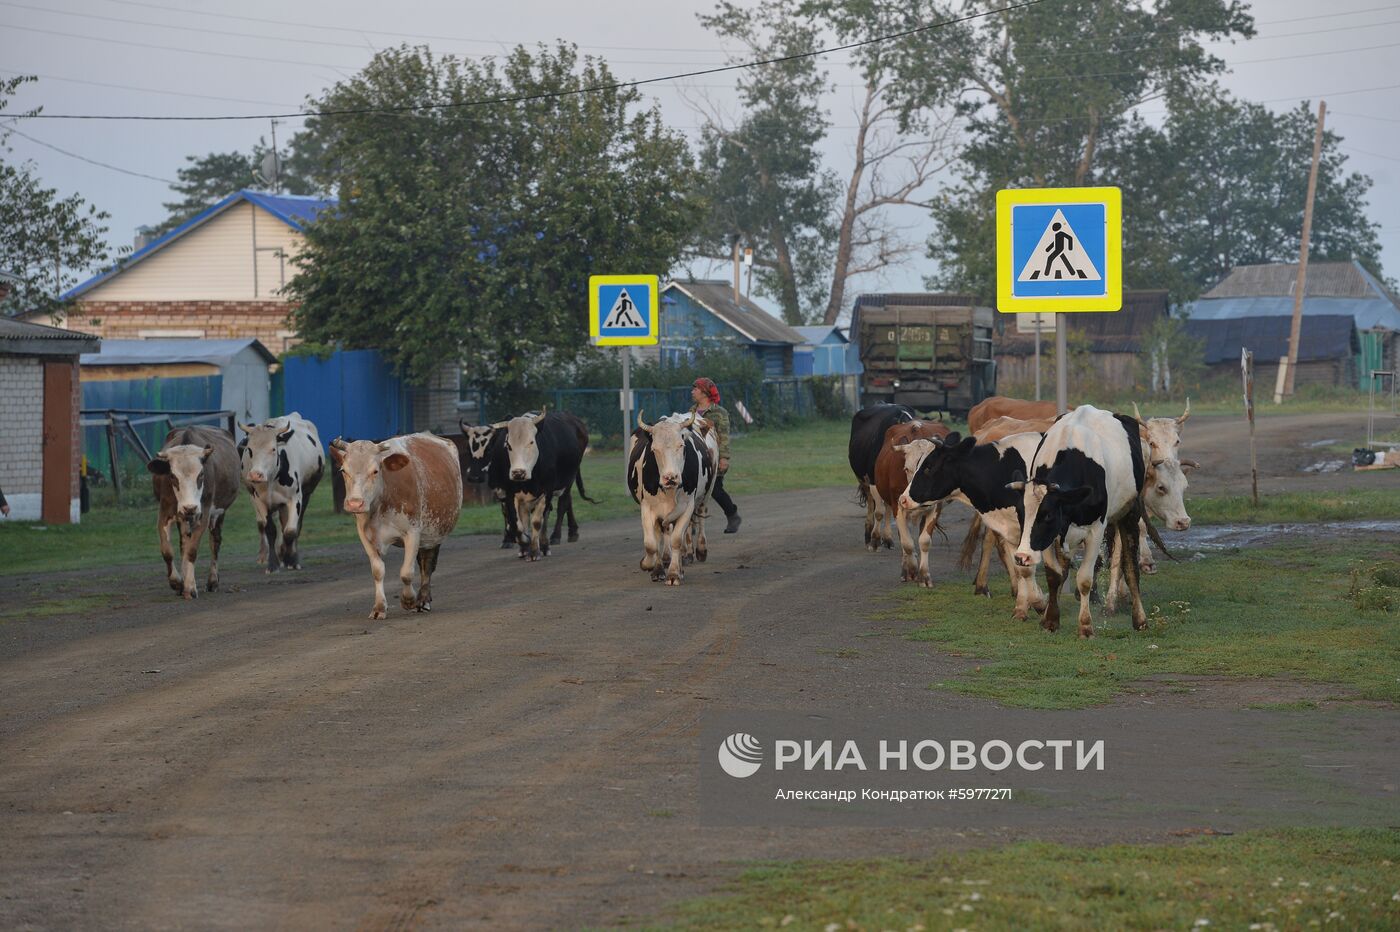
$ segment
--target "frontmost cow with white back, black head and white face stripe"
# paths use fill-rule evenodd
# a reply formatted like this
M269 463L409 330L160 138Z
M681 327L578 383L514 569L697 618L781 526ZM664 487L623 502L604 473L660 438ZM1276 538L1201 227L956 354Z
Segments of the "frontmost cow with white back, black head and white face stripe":
M1093 637L1089 593L1099 549L1112 526L1123 546L1123 575L1133 596L1133 627L1145 628L1137 551L1147 465L1138 423L1082 404L1046 431L1028 476L1011 483L1012 488L1022 491L1025 509L1016 564L1030 567L1044 558L1050 603L1042 627L1058 630L1060 586L1070 572L1070 554L1084 547L1084 560L1075 575L1079 637Z

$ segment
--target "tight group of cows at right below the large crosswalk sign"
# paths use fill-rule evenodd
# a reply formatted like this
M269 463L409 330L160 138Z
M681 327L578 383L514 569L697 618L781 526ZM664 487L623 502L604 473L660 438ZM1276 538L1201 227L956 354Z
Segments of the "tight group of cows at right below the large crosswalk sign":
M1165 551L1152 518L1186 530L1186 473L1197 463L1180 458L1180 417L1144 420L1092 406L1056 417L1050 402L990 397L967 416L969 437L939 421L920 420L902 404L876 404L851 420L850 463L865 502L865 544L903 551L903 578L930 585L928 546L942 508L951 501L974 512L962 547L970 563L979 544L981 563L974 591L987 595L987 571L995 550L1011 577L1014 617L1043 612L1042 627L1060 627L1060 588L1082 550L1075 572L1079 634L1092 637L1089 596L1107 546L1107 609L1123 591L1131 598L1133 627L1147 626L1140 572L1154 571L1151 537ZM914 556L914 547L918 556ZM1035 567L1044 563L1049 593Z

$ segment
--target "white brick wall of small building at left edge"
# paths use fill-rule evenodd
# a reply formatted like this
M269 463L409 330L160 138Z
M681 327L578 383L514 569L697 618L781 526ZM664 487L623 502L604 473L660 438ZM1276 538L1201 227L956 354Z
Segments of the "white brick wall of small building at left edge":
M32 521L39 516L43 493L43 367L38 357L0 355L0 488L14 508L11 518ZM32 515L28 514L31 498Z

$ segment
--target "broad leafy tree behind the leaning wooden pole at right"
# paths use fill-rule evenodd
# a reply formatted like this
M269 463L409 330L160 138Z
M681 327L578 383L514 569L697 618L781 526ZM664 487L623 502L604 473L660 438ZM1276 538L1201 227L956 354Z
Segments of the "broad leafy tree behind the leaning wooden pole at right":
M1196 297L1240 264L1296 262L1317 115L1274 113L1222 91L1177 101L1158 129L1138 122L1106 158L1124 197L1128 274ZM1315 260L1359 259L1380 276L1371 179L1347 172L1341 137L1323 133L1313 203Z

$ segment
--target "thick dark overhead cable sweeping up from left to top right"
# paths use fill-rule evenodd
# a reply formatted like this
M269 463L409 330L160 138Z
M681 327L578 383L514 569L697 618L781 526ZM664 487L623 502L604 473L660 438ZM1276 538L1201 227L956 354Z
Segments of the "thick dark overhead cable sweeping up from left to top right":
M889 35L875 36L871 39L861 39L858 42L848 42L846 45L830 46L825 49L816 49L812 52L801 52L797 55L784 55L773 59L762 59L757 62L741 62L736 64L721 64L710 69L703 69L699 71L686 71L682 74L666 74L654 78L640 78L633 81L613 81L609 84L596 84L592 87L584 87L571 91L554 91L550 94L518 94L511 97L497 97L497 98L483 98L479 101L463 101L456 104L419 104L419 105L405 105L405 106L361 106L361 108L343 108L335 111L312 111L307 113L258 113L251 116L150 116L150 115L105 115L105 113L32 113L25 115L24 119L48 119L48 120L160 120L160 122L224 122L224 120L267 120L267 119L294 119L305 116L342 116L353 113L409 113L421 111L447 111L447 109L463 109L473 106L489 106L494 104L522 104L526 101L549 101L563 97L574 97L578 94L589 94L595 91L615 91L630 87L641 87L645 84L658 84L662 81L679 81L690 77L703 77L706 74L722 74L728 71L739 71L750 67L760 67L766 64L781 64L784 62L798 62L802 59L811 59L820 55L833 55L836 52L848 52L851 49L860 49L868 45L875 45L878 42L889 42L893 39L902 39L910 35L918 35L921 32L930 32L932 29L939 29L944 27L955 25L959 22L969 22L972 20L981 20L998 13L1012 13L1016 10L1025 10L1026 7L1033 7L1044 0L1022 0L1021 3L1014 3L1005 7L998 7L995 10L986 10L983 13L970 13L967 15L955 17L952 20L942 20L939 22L928 22L911 29L904 29L902 32L892 32ZM42 32L42 29L39 29ZM140 43L133 43L140 45ZM210 55L210 53L200 53ZM246 56L234 56L246 57ZM253 59L262 60L262 59Z

